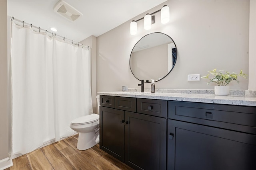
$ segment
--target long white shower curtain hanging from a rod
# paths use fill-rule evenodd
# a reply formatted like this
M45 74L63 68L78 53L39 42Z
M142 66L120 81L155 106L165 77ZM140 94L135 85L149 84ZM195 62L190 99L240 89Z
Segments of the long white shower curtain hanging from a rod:
M90 50L12 23L12 155L74 134L92 113Z

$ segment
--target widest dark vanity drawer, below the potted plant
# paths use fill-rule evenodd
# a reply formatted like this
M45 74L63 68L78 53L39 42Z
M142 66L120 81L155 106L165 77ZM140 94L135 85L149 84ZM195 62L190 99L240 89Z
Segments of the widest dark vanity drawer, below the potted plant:
M256 107L252 106L169 101L168 117L211 126L220 125L217 122L250 126L256 133Z

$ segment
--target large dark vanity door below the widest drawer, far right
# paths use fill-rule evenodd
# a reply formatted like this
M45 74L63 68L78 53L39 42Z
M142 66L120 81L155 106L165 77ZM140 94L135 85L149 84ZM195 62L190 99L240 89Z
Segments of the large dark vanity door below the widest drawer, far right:
M256 135L168 120L168 170L254 170Z

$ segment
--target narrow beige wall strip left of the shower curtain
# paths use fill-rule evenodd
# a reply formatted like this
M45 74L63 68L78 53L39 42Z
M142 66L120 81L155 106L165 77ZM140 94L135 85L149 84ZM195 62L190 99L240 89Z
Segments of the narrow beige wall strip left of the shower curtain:
M10 148L7 70L7 1L0 0L0 160L8 158Z

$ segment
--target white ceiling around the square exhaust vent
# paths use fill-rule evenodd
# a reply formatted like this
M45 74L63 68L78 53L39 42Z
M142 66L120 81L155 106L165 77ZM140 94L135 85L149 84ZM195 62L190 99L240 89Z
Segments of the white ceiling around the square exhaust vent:
M7 14L49 31L55 27L56 34L80 42L91 35L98 37L166 0L64 0L83 14L76 21L53 11L58 1L8 0Z

